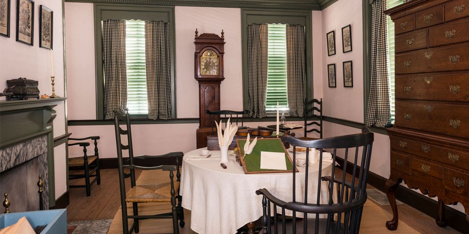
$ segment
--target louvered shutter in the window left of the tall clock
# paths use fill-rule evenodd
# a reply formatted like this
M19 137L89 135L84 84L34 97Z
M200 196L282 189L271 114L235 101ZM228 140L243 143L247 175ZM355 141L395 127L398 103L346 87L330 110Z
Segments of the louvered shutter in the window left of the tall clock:
M148 114L145 73L145 21L126 20L127 108L131 114Z

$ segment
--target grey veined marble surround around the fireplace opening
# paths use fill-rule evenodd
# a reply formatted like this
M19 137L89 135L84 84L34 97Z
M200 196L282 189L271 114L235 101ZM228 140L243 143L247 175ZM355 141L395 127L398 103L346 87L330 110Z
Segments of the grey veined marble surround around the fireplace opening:
M0 173L4 172L8 169L14 168L21 163L25 163L35 157L39 157L39 172L41 176L43 177L43 207L49 207L49 187L48 187L48 163L47 163L47 137L42 136L42 137L36 137L31 140L27 140L24 142L21 142L16 145L12 145L9 147L6 147L4 149L0 149ZM16 176L16 175L15 175ZM21 175L18 175L21 176ZM0 184L2 183L0 176ZM4 182L4 181L3 181ZM38 187L35 188L27 188L29 189L34 189L38 190ZM2 194L8 193L9 191L1 191ZM15 203L13 202L17 198L19 199L19 202L21 202L21 199L27 199L28 197L23 197L24 195L18 195L18 194L11 194L9 193L9 198L11 202L11 207L15 206ZM13 199L12 199L13 198ZM3 197L2 197L3 199Z

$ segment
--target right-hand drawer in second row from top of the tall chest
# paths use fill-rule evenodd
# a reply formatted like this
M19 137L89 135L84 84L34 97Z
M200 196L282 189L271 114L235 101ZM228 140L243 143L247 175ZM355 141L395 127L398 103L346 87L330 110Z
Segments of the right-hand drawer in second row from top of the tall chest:
M469 19L431 27L428 34L430 47L469 41Z

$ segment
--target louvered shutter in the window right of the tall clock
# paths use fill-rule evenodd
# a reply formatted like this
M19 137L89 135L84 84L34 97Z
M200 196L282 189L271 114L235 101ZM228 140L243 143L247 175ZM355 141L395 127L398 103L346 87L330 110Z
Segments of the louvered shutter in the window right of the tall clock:
M269 24L269 64L267 72L267 112L288 111L285 24Z

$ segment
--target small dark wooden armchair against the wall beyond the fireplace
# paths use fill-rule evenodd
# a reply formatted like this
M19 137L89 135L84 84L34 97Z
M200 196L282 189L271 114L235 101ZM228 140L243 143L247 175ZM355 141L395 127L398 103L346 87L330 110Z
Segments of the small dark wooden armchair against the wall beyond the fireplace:
M85 178L85 185L69 185L70 188L86 188L86 196L91 195L91 185L95 182L99 185L101 183L101 176L99 174L99 153L98 153L98 140L100 137L84 137L84 138L68 138L68 147L78 145L83 147L83 157L68 158L68 171L80 170L83 174L69 174L68 179L81 179ZM86 147L89 142L85 140L94 141L94 155L88 156ZM77 142L80 141L80 142ZM90 180L91 177L95 177Z

